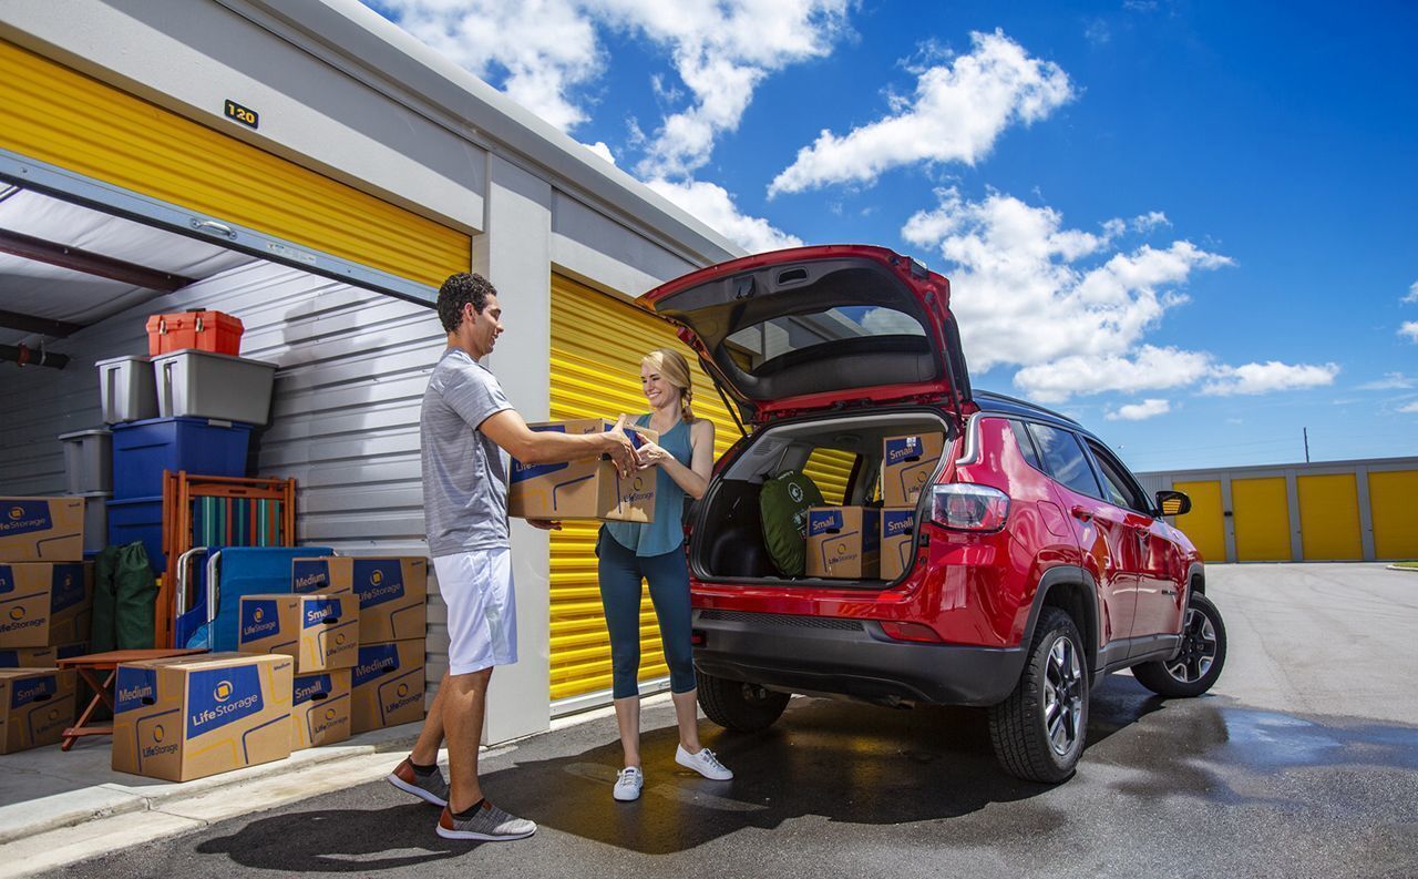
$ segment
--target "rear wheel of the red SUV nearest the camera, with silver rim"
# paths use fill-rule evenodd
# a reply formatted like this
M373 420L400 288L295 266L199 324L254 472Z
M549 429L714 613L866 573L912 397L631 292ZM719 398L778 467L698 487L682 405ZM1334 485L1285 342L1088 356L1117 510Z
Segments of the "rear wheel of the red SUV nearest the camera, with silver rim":
M1062 610L1044 608L1020 682L990 706L990 743L1000 766L1045 784L1072 776L1088 739L1088 685L1078 627Z

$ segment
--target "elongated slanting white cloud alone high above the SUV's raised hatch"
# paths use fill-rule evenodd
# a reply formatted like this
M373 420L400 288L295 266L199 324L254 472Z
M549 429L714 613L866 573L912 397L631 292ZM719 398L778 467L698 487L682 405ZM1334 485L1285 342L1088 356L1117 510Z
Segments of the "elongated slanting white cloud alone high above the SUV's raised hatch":
M922 72L913 98L893 101L889 116L841 138L822 130L773 180L769 194L871 183L917 162L974 164L1005 128L1038 122L1073 98L1059 65L1029 57L1003 31L970 38L968 55Z

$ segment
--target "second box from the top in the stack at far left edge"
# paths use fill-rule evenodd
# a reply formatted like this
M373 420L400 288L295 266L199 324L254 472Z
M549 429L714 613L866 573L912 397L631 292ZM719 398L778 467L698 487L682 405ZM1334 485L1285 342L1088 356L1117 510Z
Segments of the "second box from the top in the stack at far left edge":
M0 649L85 641L92 607L86 561L0 564Z

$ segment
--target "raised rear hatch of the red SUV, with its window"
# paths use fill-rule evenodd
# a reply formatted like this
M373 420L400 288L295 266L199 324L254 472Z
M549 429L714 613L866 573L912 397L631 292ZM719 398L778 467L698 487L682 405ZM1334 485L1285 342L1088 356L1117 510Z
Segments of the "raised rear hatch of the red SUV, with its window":
M744 257L664 284L638 303L681 327L753 422L942 401L959 420L970 398L950 282L882 247Z

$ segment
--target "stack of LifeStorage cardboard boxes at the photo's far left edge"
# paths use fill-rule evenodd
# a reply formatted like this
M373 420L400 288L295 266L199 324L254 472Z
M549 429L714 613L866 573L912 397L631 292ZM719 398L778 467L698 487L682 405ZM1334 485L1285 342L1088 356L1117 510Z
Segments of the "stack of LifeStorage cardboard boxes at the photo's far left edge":
M0 498L0 754L57 743L74 724L94 571L84 561L82 498Z

